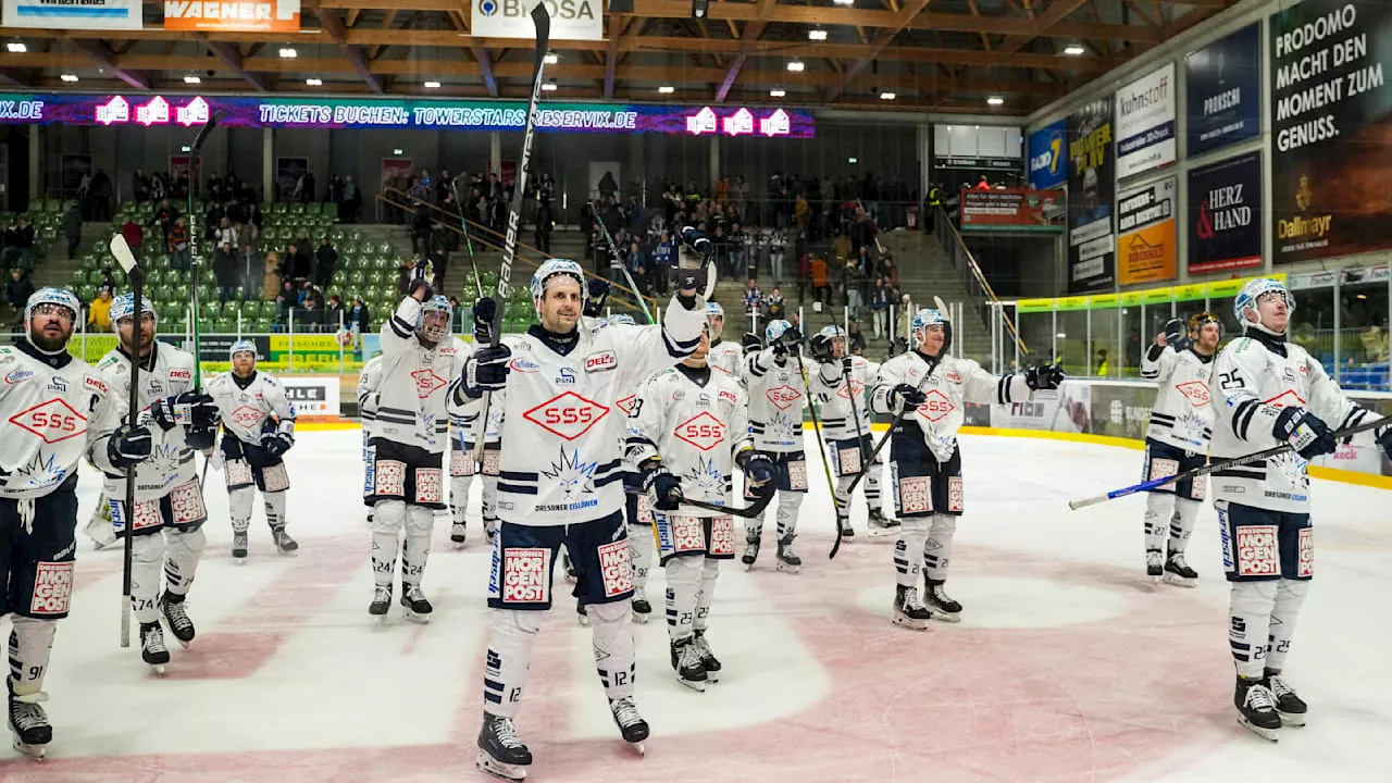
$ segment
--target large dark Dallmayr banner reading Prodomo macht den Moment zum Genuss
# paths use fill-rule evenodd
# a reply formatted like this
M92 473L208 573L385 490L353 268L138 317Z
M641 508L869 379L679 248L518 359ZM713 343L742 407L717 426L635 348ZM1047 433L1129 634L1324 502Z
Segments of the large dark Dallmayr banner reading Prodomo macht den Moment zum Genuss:
M1271 15L1272 261L1392 248L1392 3Z

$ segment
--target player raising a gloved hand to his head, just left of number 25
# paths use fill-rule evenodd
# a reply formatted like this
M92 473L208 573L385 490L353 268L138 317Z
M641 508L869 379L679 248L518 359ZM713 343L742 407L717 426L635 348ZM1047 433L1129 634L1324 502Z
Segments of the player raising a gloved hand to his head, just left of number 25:
M1187 332L1187 337L1186 337ZM1214 407L1210 404L1212 361L1222 340L1222 322L1208 312L1183 322L1172 318L1140 358L1140 376L1157 380L1155 405L1146 428L1146 479L1176 475L1203 467L1212 440ZM1180 587L1194 587L1199 574L1185 561L1185 546L1203 506L1207 476L1180 479L1146 496L1146 575ZM1169 528L1161 559L1160 545Z

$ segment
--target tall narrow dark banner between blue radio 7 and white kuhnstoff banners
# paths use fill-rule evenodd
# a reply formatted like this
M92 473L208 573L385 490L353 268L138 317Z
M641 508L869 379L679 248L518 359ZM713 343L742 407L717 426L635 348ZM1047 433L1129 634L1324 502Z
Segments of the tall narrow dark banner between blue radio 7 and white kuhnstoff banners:
M1083 104L1068 117L1069 276L1072 294L1111 288L1116 281L1112 198L1112 99Z

